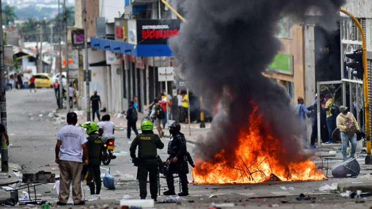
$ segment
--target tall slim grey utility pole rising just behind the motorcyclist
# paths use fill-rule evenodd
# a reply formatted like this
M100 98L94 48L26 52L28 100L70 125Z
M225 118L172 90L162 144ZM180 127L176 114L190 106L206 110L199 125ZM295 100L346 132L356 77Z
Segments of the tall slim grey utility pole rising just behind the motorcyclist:
M87 0L84 0L84 51L85 51L85 100L86 100L86 112L87 112L87 121L91 120L91 100L89 98L89 62L88 62L88 42L87 42L87 35L88 35L88 27L87 27Z

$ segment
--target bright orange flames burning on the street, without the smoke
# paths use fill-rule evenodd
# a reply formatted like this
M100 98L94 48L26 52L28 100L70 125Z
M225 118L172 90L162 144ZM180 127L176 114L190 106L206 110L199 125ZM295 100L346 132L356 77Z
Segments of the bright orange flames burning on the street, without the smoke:
M251 184L269 180L316 181L326 178L309 157L283 160L291 153L279 139L268 133L269 125L257 113L257 108L249 121L248 130L239 133L234 153L222 149L207 161L196 156L196 167L192 171L194 183Z

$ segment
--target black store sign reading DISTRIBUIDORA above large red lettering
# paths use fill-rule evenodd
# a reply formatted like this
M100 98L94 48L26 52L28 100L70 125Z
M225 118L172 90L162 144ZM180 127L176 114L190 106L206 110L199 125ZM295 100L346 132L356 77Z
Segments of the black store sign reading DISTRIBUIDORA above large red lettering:
M137 44L167 44L178 34L178 19L137 19Z

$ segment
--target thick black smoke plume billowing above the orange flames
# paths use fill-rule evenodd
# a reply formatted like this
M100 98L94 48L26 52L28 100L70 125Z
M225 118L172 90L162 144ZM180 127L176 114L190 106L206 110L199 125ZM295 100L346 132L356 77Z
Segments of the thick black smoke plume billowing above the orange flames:
M306 15L319 14L323 25L335 25L344 1L188 0L183 4L187 22L170 41L181 77L205 97L207 107L221 107L212 130L196 147L199 158L211 160L222 149L233 152L239 133L255 122L249 120L255 107L267 124L260 129L262 136L277 137L286 153L278 155L278 160L305 158L298 140L303 128L294 116L292 101L284 88L262 72L280 50L276 34L281 19L300 22ZM272 148L269 141L266 146Z

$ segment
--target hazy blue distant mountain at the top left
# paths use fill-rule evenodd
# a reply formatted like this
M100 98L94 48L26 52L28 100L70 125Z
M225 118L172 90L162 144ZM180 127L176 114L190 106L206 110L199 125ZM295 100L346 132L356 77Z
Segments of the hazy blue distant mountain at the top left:
M60 0L61 11L63 0ZM58 13L58 0L2 0L2 6L8 4L14 7L17 20L27 18L51 19ZM74 6L74 0L66 0L66 6Z

